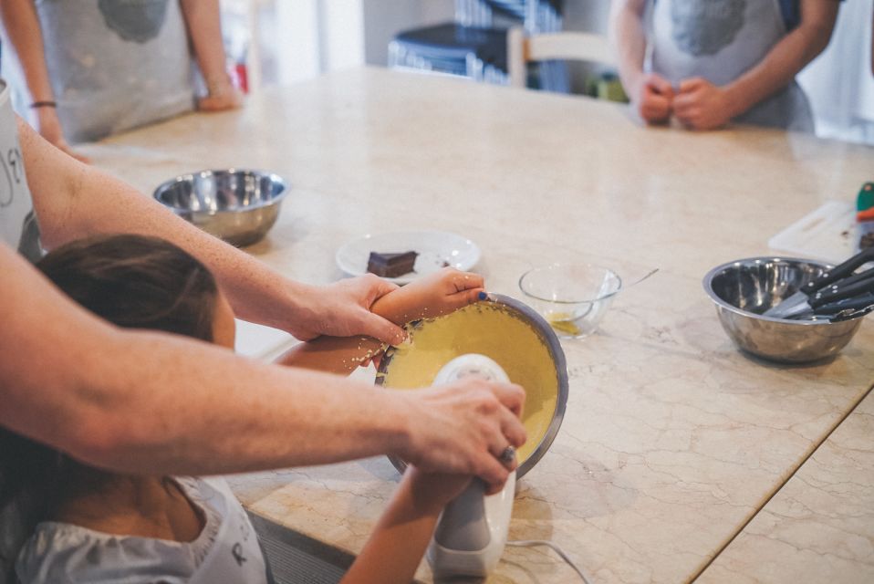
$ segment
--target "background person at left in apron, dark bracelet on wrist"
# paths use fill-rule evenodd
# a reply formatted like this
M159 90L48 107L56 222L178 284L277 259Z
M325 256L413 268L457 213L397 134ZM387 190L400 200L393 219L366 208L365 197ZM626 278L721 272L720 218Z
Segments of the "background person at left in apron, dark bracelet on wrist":
M16 110L71 156L94 141L191 111L243 103L226 72L219 0L4 0L4 76ZM13 49L16 61L7 49ZM206 95L195 97L192 55ZM23 79L10 79L10 65ZM26 87L25 87L26 86Z

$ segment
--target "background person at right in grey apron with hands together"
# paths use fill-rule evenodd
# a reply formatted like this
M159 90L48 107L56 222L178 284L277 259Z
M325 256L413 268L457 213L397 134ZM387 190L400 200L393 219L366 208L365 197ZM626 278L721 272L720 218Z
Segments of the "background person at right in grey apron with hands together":
M812 132L795 76L827 47L837 17L838 0L613 0L619 77L648 123Z

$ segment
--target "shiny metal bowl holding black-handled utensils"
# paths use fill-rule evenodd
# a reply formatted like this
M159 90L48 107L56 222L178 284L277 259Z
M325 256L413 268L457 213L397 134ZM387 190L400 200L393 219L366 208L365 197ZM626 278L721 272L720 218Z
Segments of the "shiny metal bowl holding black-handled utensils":
M803 259L750 257L714 267L704 276L703 286L739 349L767 360L804 363L836 355L856 334L862 319L790 320L762 313L827 267Z

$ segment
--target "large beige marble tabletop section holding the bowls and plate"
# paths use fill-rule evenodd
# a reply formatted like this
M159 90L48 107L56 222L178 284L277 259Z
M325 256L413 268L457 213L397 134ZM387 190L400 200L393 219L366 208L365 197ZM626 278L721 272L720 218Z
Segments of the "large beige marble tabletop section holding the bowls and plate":
M342 276L334 254L350 239L401 229L470 237L488 287L514 297L526 269L555 261L627 277L660 267L619 295L598 333L563 342L564 424L516 493L510 537L555 542L596 582L679 582L705 569L709 581L734 581L744 557L766 553L742 545L762 532L763 506L779 503L772 496L874 382L871 322L835 360L774 365L734 349L701 285L717 264L769 254L772 235L827 199L854 197L871 179L870 148L643 128L616 104L351 69L88 154L146 193L203 168L282 174L292 192L247 251L309 282ZM255 513L355 553L397 479L380 458L233 484ZM819 528L797 518L792 528L808 525ZM870 530L860 537L874 541ZM723 548L726 563L711 565ZM430 578L424 565L420 577ZM574 578L548 550L508 548L489 581Z

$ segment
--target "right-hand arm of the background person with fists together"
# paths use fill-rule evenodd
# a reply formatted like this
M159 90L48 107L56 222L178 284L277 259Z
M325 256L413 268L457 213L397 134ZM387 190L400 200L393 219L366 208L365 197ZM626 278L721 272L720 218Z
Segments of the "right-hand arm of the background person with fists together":
M788 85L831 39L838 0L801 0L801 22L761 62L718 87L703 78L685 79L674 99L677 119L693 130L712 130Z

